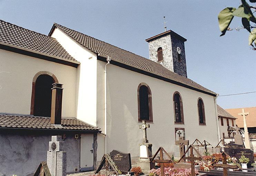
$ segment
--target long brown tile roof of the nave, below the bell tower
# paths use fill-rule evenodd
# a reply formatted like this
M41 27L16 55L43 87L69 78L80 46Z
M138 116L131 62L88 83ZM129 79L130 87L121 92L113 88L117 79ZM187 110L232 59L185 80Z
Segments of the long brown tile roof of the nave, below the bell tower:
M177 81L178 83L185 84L187 86L203 90L205 92L208 92L210 94L216 95L215 92L197 84L191 79L188 79L186 77L180 76L178 74L175 74L171 72L169 69L165 68L161 64L158 64L154 61L151 61L147 58L141 57L139 55L136 55L134 53L131 53L129 51L123 50L119 47L116 47L114 45L111 45L109 43L100 41L98 39L95 39L91 36L82 34L80 32L74 31L72 29L66 28L65 26L54 24L52 27L52 30L50 31L49 35L51 35L51 32L55 29L55 27L59 28L63 32L65 32L68 36L70 36L73 40L81 44L82 46L86 47L90 51L105 55L105 56L111 56L112 58L116 59L117 61L124 62L126 64L130 64L131 66L139 67L147 72L152 72L156 75L160 75L162 77L167 77L168 79Z

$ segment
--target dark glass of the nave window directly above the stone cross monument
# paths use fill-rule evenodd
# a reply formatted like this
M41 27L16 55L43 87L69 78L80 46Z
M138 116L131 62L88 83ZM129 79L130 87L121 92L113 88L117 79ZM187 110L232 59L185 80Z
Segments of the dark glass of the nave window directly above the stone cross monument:
M149 103L148 103L148 88L140 86L139 88L139 103L140 103L140 120L149 120Z

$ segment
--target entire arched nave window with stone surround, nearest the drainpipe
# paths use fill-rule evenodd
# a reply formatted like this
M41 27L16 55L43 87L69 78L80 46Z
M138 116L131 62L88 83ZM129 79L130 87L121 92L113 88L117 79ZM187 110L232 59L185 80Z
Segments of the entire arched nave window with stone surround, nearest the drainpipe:
M138 94L138 121L146 120L153 122L152 113L152 96L149 86L140 83L137 90Z

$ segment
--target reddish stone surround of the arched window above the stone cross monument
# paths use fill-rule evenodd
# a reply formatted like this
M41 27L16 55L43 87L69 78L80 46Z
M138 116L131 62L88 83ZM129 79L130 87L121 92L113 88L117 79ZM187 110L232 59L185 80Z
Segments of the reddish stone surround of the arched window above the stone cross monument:
M137 97L138 97L138 121L141 122L142 120L140 119L140 98L139 98L139 89L140 86L146 86L148 88L148 105L149 105L149 120L146 120L146 122L151 122L153 123L153 111L152 111L152 93L149 88L149 86L146 83L140 83L137 89Z

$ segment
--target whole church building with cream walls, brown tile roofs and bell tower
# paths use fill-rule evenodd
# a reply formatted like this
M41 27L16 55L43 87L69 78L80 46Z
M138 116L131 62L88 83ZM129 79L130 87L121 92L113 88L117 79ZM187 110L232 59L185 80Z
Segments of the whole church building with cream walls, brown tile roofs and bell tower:
M149 59L56 23L47 36L0 21L0 172L31 174L56 134L69 173L112 150L138 157L142 120L153 152L174 152L178 131L217 144L216 93L187 78L186 39L169 30L146 41Z

